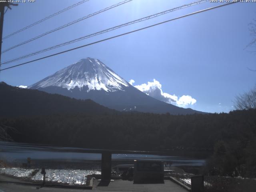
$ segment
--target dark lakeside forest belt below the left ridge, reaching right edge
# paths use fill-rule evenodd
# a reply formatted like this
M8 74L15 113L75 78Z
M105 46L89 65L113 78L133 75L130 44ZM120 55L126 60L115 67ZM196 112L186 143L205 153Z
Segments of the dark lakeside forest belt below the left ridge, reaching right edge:
M83 148L208 150L210 174L256 176L256 110L229 114L55 114L1 118L16 142Z

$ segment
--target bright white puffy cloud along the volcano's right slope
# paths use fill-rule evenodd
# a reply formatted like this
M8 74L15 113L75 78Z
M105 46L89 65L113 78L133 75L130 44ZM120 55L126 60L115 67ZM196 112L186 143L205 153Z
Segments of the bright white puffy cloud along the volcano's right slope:
M186 107L196 103L196 99L192 98L190 95L183 95L178 97L175 94L171 95L164 93L162 91L162 84L160 84L160 82L155 79L153 82L148 82L147 84L144 83L141 85L133 85L134 82L135 81L133 79L129 81L132 86L136 87L138 90L144 92L148 96L164 101L166 103L175 104L176 106L180 107Z

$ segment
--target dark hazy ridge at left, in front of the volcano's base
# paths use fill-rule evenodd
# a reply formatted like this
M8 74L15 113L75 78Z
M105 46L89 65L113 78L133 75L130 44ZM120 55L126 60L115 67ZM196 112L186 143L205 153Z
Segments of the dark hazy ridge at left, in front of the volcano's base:
M39 90L23 89L0 82L0 117L50 114L113 114L92 100L76 100Z

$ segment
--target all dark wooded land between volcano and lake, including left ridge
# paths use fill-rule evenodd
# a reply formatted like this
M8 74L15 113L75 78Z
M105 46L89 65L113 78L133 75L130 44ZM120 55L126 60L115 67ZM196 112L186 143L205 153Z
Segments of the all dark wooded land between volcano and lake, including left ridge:
M113 150L208 151L212 153L206 165L208 174L256 176L256 109L192 115L118 112L92 100L6 84L0 88L0 127L15 142Z

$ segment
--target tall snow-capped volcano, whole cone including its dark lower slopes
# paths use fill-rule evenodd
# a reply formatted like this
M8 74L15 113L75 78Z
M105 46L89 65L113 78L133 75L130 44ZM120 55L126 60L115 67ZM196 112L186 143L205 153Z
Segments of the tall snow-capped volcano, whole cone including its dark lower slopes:
M28 87L77 99L92 99L119 111L170 114L203 113L152 98L108 68L98 59L86 58Z

